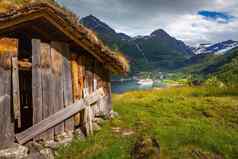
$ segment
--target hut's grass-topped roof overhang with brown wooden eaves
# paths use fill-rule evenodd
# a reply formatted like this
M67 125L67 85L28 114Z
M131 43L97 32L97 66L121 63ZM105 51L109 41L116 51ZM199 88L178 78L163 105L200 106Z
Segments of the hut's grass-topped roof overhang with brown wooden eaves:
M104 46L91 30L72 21L62 9L51 4L33 3L0 14L0 35L15 36L21 30L28 32L32 37L40 36L46 40L54 40L51 38L57 34L58 40L83 48L112 72L120 74L128 72L128 66Z

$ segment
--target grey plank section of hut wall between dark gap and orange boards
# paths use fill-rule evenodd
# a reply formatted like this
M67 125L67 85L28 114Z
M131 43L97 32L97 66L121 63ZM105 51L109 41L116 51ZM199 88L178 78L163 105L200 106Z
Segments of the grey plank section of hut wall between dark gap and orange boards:
M32 40L33 124L73 103L69 46L65 43L43 43ZM73 119L57 125L38 139L53 140L72 132Z

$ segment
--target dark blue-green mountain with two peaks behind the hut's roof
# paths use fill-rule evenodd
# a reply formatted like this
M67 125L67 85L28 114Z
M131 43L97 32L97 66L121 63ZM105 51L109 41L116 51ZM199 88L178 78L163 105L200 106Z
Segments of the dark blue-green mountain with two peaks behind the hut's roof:
M94 30L111 48L123 52L131 62L132 72L171 70L193 56L191 47L162 29L147 36L130 37L117 33L93 15L82 18L81 23Z

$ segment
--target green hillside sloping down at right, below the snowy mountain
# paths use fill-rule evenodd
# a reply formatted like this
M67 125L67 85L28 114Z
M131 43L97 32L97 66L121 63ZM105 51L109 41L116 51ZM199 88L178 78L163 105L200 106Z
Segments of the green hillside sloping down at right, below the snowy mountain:
M185 74L199 75L204 79L217 76L226 84L238 83L238 48L224 55L201 54L185 61L184 66L177 71Z

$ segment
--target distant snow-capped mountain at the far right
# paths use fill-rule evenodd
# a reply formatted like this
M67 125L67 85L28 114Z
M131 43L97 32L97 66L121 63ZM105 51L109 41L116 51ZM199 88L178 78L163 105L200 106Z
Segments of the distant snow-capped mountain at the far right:
M235 47L238 47L238 41L227 40L216 44L200 44L198 47L193 48L194 54L223 54Z

